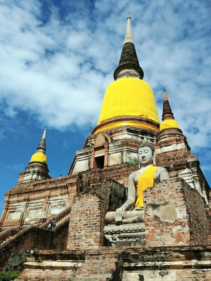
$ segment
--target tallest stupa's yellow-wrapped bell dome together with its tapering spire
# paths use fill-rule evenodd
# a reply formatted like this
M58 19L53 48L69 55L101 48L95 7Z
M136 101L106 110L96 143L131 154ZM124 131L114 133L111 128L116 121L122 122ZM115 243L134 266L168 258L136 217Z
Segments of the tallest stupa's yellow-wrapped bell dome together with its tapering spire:
M159 131L159 117L154 94L149 84L143 81L128 17L123 50L115 81L111 83L103 99L97 126L93 133L120 126L135 126Z

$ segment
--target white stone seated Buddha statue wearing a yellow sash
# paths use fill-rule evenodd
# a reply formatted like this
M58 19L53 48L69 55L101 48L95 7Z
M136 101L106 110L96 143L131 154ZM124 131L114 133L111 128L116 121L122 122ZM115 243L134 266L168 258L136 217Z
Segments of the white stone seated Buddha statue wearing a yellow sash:
M153 187L162 180L169 179L168 171L163 167L155 166L155 149L147 142L138 146L138 161L140 169L128 177L128 199L115 212L108 212L105 219L108 224L128 224L143 222L143 190ZM138 190L138 198L136 194ZM127 211L135 205L132 211Z

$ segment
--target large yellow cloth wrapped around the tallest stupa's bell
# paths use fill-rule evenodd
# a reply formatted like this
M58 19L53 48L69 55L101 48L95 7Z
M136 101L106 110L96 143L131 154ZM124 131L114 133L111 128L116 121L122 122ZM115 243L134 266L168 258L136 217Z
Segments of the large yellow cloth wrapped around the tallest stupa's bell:
M143 116L160 123L152 88L137 78L121 78L107 88L98 124L118 116Z

